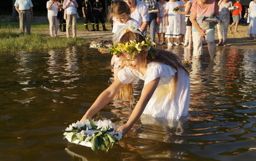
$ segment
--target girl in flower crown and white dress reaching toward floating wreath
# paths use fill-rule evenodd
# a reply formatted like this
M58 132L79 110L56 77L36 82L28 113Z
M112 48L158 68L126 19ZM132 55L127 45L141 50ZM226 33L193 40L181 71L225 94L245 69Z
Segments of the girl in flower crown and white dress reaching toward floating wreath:
M122 60L118 77L103 91L83 119L91 119L107 103L118 97L133 105L133 82L144 80L140 99L125 125L118 128L123 136L142 113L156 118L180 120L187 117L190 101L189 73L170 51L154 49L154 43L135 29L121 31L119 43L109 50ZM132 32L131 32L132 31Z

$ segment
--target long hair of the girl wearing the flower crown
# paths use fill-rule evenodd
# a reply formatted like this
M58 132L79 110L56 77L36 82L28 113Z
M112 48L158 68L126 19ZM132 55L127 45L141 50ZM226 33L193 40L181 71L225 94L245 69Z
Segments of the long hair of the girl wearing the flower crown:
M126 34L123 35L123 37L121 37L120 39L120 43L125 44L126 42L129 42L130 40L136 40L137 42L142 42L145 41L145 37L143 37L140 34L137 33L133 33L133 32L126 32ZM182 61L179 59L179 57L173 53L171 53L170 51L165 51L165 50L158 50L158 55L154 56L154 58L152 58L152 56L150 54L145 54L146 51L141 51L139 53L139 55L142 56L145 66L147 65L147 63L150 62L159 62L159 63L164 63L166 65L170 65L173 68L175 68L175 70L177 70L177 72L175 73L174 76L174 81L173 81L173 86L172 86L172 94L171 94L171 100L174 97L176 88L177 88L177 81L178 81L178 71L179 70L185 70L185 72L187 72L187 74L189 75L189 72L187 71L187 69L184 67L184 65L182 64ZM150 51L148 51L150 52ZM123 62L120 68L125 67L125 63ZM134 103L134 96L133 96L133 83L131 84L125 84L123 87L121 87L121 89L118 92L118 96L121 100L126 100L128 99L130 101L130 105L133 105Z

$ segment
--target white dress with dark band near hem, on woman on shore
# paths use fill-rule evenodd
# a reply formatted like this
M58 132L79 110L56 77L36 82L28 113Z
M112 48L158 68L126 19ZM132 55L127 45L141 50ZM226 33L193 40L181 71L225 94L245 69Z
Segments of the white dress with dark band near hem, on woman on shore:
M173 12L173 9L180 5L180 1L176 1L175 3L169 1L166 4L165 10L168 10L169 25L166 27L165 37L180 37L180 14Z

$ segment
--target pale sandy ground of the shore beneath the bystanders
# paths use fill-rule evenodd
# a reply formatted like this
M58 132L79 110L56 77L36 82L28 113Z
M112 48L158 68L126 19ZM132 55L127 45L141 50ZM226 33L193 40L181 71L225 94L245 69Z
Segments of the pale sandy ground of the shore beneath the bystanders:
M109 26L108 29L111 29ZM247 35L248 25L239 25L238 31L235 34L232 34L229 30L227 34L227 46L218 47L218 48L237 48L237 49L255 49L256 50L256 41L250 40ZM59 33L60 37L65 37L65 32ZM149 30L147 31L149 36ZM98 32L88 32L85 30L77 30L77 37L83 37L85 39L91 39L91 41L105 42L112 40L112 32L108 31L98 31ZM157 36L156 36L157 39ZM218 43L217 30L215 30L215 43Z

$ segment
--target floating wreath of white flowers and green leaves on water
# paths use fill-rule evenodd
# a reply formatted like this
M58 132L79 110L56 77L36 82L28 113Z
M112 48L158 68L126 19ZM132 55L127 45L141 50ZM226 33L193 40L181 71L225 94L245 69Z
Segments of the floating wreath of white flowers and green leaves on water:
M91 147L95 153L97 153L97 149L107 152L122 136L122 131L116 131L111 120L77 121L64 131L64 139L77 145Z

